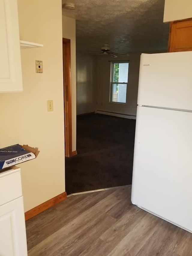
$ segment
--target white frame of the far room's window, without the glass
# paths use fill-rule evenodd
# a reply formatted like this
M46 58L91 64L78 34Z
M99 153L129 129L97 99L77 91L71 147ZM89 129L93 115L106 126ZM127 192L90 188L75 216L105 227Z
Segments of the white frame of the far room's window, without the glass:
M122 60L122 61L110 61L110 65L111 65L111 74L110 74L110 94L109 94L109 103L112 104L122 104L122 105L126 105L127 104L127 89L126 89L126 102L116 102L113 101L113 84L126 84L127 88L128 88L128 81L127 83L117 83L117 82L112 82L113 81L113 75L114 75L114 64L115 63L128 63L129 64L129 60ZM128 65L128 77L129 77L129 65Z

